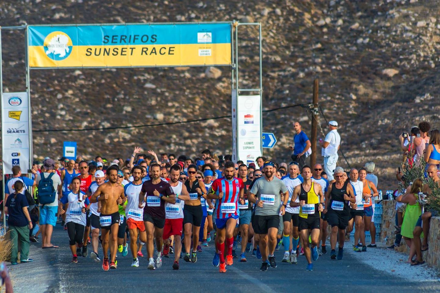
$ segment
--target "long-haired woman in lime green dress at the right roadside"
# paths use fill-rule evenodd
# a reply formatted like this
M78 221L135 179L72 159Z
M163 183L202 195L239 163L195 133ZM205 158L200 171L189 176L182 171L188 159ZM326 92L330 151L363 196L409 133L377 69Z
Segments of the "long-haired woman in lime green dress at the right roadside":
M419 265L425 263L422 260L421 252L420 255L419 252L417 252L417 259L413 261L413 257L416 254L413 231L420 215L422 214L422 207L417 202L417 200L419 199L419 192L422 192L422 190L423 181L422 179L418 178L410 186L409 191L407 190L404 195L399 195L396 198L396 201L407 204L405 214L403 216L403 223L400 234L403 236L403 239L405 239L407 246L410 248L410 254L408 256L407 263L411 265ZM421 237L423 237L423 235L421 235Z

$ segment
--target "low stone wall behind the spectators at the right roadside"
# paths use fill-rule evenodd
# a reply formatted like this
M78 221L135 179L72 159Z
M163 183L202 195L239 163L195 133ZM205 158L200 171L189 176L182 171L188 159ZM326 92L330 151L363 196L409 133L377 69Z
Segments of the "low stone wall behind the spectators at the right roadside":
M396 217L396 202L394 200L383 200L381 202L383 207L382 225L381 225L381 239L386 240L386 246L391 246L396 239L394 231L395 217ZM429 229L429 250L423 253L423 260L433 267L440 268L440 217L432 217ZM408 253L409 249L402 239L400 247L396 250L402 253Z

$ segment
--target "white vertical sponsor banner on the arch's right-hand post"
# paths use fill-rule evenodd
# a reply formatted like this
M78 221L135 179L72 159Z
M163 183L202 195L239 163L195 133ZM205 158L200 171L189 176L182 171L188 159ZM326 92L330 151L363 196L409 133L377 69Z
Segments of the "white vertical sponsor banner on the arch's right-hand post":
M255 163L261 156L260 95L238 96L237 116L238 159Z

